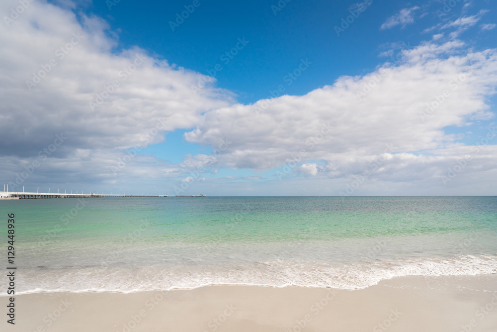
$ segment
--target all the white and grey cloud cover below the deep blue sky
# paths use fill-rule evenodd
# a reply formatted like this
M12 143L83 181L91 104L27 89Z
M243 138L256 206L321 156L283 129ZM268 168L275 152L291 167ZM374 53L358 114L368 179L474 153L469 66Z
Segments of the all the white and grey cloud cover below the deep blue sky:
M15 3L1 2L1 16ZM140 48L117 51L117 34L104 20L76 16L67 9L73 2L65 3L61 8L34 1L8 25L0 24L0 169L7 181L34 161L41 165L31 182L109 185L178 178L192 186L249 183L261 177L198 180L221 168L262 172L295 165L291 175L312 186L330 183L315 179L345 186L366 171L371 183L404 184L418 194L468 155L467 176L458 181L483 186L496 175L495 146L477 153L444 132L493 118L494 49L471 51L454 35L444 41L440 33L366 75L339 77L304 96L242 105L212 78ZM382 28L412 23L417 9L401 10ZM438 28L462 31L483 14ZM193 94L199 81L207 84ZM210 146L215 155L186 155L172 164L136 152L179 128L189 130L187 142ZM56 135L67 138L52 151ZM50 157L43 159L47 148ZM288 186L300 191L297 184ZM261 188L277 194L274 185Z

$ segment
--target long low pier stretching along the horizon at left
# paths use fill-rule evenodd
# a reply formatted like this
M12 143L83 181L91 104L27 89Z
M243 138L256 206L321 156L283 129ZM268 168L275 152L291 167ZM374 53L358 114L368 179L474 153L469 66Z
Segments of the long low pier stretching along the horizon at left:
M28 200L37 198L133 198L133 197L205 197L205 195L140 195L140 194L66 194L66 193L24 193L24 192L0 192L0 200Z

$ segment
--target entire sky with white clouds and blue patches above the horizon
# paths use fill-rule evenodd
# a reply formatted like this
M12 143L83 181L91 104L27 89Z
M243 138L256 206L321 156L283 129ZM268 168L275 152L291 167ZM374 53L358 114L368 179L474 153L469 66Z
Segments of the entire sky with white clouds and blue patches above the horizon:
M6 1L0 127L14 139L0 147L4 182L336 196L367 173L350 195L496 194L497 139L471 152L496 125L495 2L193 2L37 1L9 20L17 2ZM77 31L82 40L30 87ZM137 54L147 60L121 81ZM331 129L311 147L323 123ZM59 132L67 141L16 183Z

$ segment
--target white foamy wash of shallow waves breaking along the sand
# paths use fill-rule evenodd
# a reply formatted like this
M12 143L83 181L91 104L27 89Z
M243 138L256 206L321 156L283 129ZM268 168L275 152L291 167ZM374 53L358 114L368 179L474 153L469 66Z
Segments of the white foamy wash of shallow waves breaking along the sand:
M350 245L348 243L347 245ZM109 256L110 257L110 256ZM309 263L304 265L305 263ZM119 268L98 266L49 268L44 266L25 268L19 282L22 293L120 293L132 294L147 291L194 290L207 286L254 286L254 287L304 287L360 290L392 278L431 275L458 276L497 274L497 256L489 254L458 255L455 257L415 257L398 260L377 260L366 263L338 265L309 260L297 268L287 262L251 264L230 270L222 266L216 273L209 273L210 266L150 265ZM250 269L251 268L251 269ZM21 270L19 270L21 271ZM207 272L206 272L207 271ZM3 278L7 282L6 276ZM6 296L6 290L0 290Z

